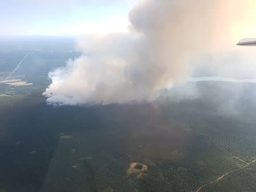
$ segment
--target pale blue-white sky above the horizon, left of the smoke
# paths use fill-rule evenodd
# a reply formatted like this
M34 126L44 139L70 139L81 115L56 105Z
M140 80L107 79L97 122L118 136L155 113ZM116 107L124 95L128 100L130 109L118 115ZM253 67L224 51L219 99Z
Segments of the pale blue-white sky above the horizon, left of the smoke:
M84 35L126 31L137 0L0 1L0 35Z

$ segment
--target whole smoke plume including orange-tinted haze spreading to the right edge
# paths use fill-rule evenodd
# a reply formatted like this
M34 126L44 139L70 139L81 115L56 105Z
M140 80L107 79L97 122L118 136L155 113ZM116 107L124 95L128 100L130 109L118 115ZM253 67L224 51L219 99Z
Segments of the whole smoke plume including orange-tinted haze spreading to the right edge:
M129 13L129 32L78 40L82 55L49 73L43 95L54 105L144 102L191 73L254 76L255 54L237 48L233 32L254 24L250 7L250 0L142 1Z

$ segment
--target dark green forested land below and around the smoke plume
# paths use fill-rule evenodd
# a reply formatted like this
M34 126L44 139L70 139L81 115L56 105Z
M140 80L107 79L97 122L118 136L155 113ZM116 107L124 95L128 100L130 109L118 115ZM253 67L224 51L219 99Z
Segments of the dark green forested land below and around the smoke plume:
M152 102L56 107L47 73L80 53L46 39L0 53L1 81L28 54L11 79L29 84L0 84L0 190L255 191L255 81L197 77Z

